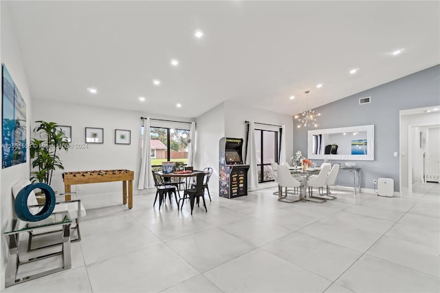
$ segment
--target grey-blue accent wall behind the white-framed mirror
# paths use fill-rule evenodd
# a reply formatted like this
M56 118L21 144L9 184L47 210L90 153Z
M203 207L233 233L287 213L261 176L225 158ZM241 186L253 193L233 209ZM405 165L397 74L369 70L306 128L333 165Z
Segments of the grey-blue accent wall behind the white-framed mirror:
M359 99L367 96L371 96L371 103L359 105ZM362 188L373 189L374 179L388 177L394 180L395 191L399 191L399 158L393 156L399 151L399 111L435 105L440 105L440 65L316 108L321 113L318 129L374 124L374 161L353 161L362 168ZM294 152L299 150L307 155L310 128L298 129L297 123L295 120ZM344 164L347 161L330 162ZM348 172L338 175L337 184L353 184L353 176L345 173Z

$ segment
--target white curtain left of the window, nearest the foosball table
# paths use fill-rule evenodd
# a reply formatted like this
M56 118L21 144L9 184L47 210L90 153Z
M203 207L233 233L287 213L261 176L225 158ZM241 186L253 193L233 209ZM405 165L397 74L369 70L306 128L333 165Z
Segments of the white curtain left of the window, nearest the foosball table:
M140 175L137 189L148 189L154 186L153 173L151 173L151 145L150 145L150 118L142 119L144 126L144 133L141 136L141 160L140 160ZM143 146L142 146L143 144Z

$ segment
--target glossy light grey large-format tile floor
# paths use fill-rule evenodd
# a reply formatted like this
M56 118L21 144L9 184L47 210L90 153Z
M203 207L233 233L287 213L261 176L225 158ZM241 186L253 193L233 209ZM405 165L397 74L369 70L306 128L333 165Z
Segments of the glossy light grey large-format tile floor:
M5 292L440 292L440 186L401 198L333 191L277 202L275 188L212 195L208 213L154 195L87 202L72 269Z

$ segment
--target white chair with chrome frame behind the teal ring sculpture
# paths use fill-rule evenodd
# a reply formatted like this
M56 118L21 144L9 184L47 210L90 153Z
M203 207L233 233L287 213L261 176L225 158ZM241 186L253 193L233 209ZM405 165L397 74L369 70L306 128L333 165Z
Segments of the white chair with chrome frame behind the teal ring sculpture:
M12 186L12 195L14 196L14 199L17 197L17 195L19 194L19 192L21 191L21 189L25 186L28 186L29 184L31 184L31 182L29 180L21 180L19 182L17 182L16 184L14 184ZM72 225L71 225L71 229L73 232L76 231L76 239L72 239L71 242L74 241L80 241L81 240L81 233L80 233L80 219L82 217L85 217L86 215L86 210L83 206L83 204L81 204L80 199L76 199L76 193L68 193L70 195L73 195L74 199L69 201L69 202L65 202L64 200L57 200L56 204L55 204L55 208L54 211L52 213L61 213L61 212L69 212L69 217L72 220ZM60 197L60 198L65 198L66 193L61 193L58 194L56 196ZM32 191L28 197L28 206L30 206L29 210L32 214L37 213L39 211L39 209L41 208L42 205L38 204L38 201L36 199L36 195L34 193L34 191ZM38 237L38 236L43 236L43 235L48 235L48 234L52 234L54 232L60 232L61 230L59 228L47 228L44 230L40 230L39 233L35 233L35 232L29 232L29 239L28 239L28 250L32 250L32 239L34 237ZM74 234L72 232L72 235Z

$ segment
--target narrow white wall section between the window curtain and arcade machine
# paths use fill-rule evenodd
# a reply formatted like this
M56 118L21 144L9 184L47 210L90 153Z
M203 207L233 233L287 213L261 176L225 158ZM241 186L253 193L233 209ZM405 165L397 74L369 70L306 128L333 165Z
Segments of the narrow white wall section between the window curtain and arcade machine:
M210 166L209 190L219 194L219 140L225 136L225 105L221 103L196 119L195 169Z

